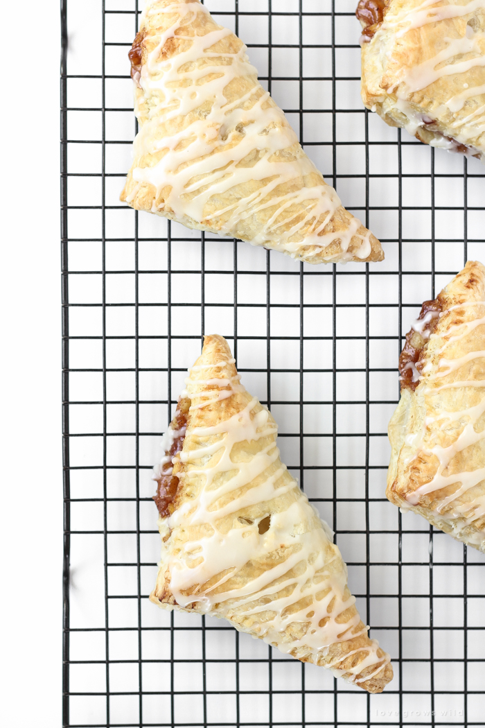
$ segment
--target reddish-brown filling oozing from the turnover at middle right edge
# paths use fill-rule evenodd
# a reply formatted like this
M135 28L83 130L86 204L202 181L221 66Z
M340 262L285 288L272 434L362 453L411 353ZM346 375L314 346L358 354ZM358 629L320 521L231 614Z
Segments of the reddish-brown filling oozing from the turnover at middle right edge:
M414 392L419 384L425 345L436 328L441 310L439 298L425 301L414 327L406 333L406 343L399 357L401 392L406 388Z

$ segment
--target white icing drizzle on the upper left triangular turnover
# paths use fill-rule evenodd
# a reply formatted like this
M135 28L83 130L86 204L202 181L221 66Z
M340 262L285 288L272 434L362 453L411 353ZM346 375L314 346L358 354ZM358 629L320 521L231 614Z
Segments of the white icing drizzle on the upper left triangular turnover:
M329 253L328 259L345 261L352 258L347 251L350 241L357 236L361 245L355 255L362 259L368 257L372 252L370 233L358 234L361 222L357 218L350 219L346 230L323 233L340 207L340 199L331 186L324 184L313 162L301 154L297 136L283 111L270 101L269 93L257 81L257 69L249 63L246 47L232 54L210 50L232 35L228 28L220 26L203 36L184 36L181 28L191 17L204 13L208 20L210 18L208 10L199 1L174 2L168 7L161 7L154 0L145 7L143 17L163 13L177 14L177 20L159 36L158 44L148 52L141 69L138 82L143 89L141 100L149 100L152 106L148 121L135 139L135 157L161 150L164 150L164 156L154 166L135 167L133 179L140 184L155 186L156 197L162 188L169 186L171 191L166 197L166 205L177 218L185 221L189 218L199 226L204 226L204 221L215 219L217 232L229 237L239 237L237 224L240 221L276 207L260 232L249 240L252 245L283 249L292 257L305 259L314 255L315 251L302 251L302 245L325 248L340 240L340 250L333 255ZM161 60L161 50L173 38L186 41L185 47L170 60ZM211 59L219 61L220 58L225 60L226 65L211 65ZM204 60L201 68L197 64L200 59ZM238 78L249 82L250 90L243 98L228 102L224 92L228 84ZM159 103L153 106L156 98ZM184 116L188 119L207 102L211 106L205 119L197 118L188 124L173 122L172 127L179 128L178 131L171 129L162 137L160 133L157 135L161 124L168 129L172 120ZM139 104L137 101L135 112ZM243 108L245 104L251 108ZM137 113L137 116L140 114ZM279 153L289 148L300 158L290 157L289 161L285 161L288 155L285 157L285 154ZM241 166L251 153L259 155L254 166ZM321 179L321 184L305 186L268 200L268 194L277 186L315 174ZM227 193L236 184L240 186L252 180L260 182L257 191L246 197L235 195L231 205L215 213L209 215L205 212L210 199ZM127 197L128 202L134 199L137 189L138 186L135 186ZM294 213L294 224L286 230L283 227L291 218L282 220L281 213L292 205L300 209ZM154 201L152 212L160 211ZM218 219L226 213L229 215L227 220Z

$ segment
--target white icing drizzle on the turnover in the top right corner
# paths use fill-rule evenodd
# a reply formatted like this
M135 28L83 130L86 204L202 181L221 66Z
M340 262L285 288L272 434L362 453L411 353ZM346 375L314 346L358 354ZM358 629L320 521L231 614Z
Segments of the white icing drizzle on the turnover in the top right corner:
M396 30L396 39L404 36L414 28L422 28L430 23L439 23L452 18L464 17L465 15L477 14L485 10L485 0L470 0L465 4L453 4L447 0L425 0L416 7L401 7L398 12L393 12L391 5L385 15L378 33L388 29ZM455 23L455 31L459 26ZM433 58L427 58L422 63L407 69L393 87L388 89L389 93L396 93L398 98L396 106L407 117L406 130L415 135L418 127L425 127L426 122L433 121L428 117L424 119L421 114L414 111L409 105L410 96L421 91L444 76L466 74L470 69L485 66L485 34L475 33L473 28L466 24L465 34L458 38L445 38L446 45L441 48ZM443 105L433 112L438 117L444 108L456 114L461 111L469 99L476 99L485 95L485 74L481 73L482 83L469 87L463 84L464 91L454 94ZM477 108L470 107L470 114L465 118L458 118L449 123L449 127L457 130L454 138L447 139L436 136L430 141L431 146L441 147L449 151L456 151L460 145L467 145L470 136L476 137L485 130L485 105L478 104ZM460 151L463 151L460 149ZM484 149L476 149L470 146L465 154L481 155Z

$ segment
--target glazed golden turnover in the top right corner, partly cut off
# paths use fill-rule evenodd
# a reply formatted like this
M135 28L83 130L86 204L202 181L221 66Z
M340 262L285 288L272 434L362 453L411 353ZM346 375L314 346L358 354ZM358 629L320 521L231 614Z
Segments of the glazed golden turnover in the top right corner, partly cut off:
M485 159L485 0L360 0L362 99L391 127Z

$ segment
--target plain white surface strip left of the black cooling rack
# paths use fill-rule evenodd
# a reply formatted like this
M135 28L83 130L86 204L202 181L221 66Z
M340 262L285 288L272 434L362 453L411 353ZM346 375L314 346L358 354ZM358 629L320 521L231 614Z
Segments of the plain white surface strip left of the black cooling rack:
M61 724L59 5L2 7L1 700Z

